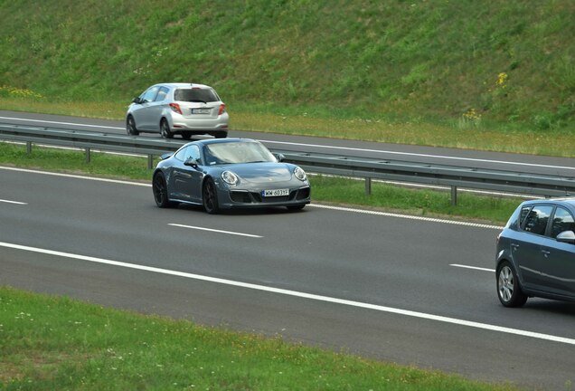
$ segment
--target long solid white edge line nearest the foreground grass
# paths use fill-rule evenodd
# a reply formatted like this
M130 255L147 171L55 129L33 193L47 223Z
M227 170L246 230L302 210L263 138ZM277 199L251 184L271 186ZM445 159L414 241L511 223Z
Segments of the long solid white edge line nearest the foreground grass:
M80 260L80 261L96 262L96 263L108 264L108 265L112 265L112 266L124 267L124 268L128 268L128 269L136 269L136 270L144 271L144 272L156 272L156 273L160 273L160 274L167 274L167 275L173 275L173 276L177 276L177 277L184 277L184 278L188 278L188 279L192 279L192 280L198 280L198 281L214 282L214 283L219 283L219 284L223 284L223 285L229 285L229 286L234 286L234 287L239 287L239 288L246 288L246 289L250 289L250 290L278 293L278 294L282 294L282 295L286 295L286 296L297 297L300 299L329 302L329 303L340 304L340 305L345 305L345 306L350 306L350 307L362 308L362 309L366 309L366 310L376 310L376 311L381 311L381 312L388 312L388 313L392 313L392 314L404 315L404 316L409 316L409 317L418 318L418 319L436 320L436 321L440 321L440 322L444 322L444 323L455 324L458 326L466 326L466 327L471 327L471 328L475 328L475 329L485 329L485 330L489 330L489 331L497 331L497 332L503 332L506 334L514 334L514 335L518 335L518 336L522 336L522 337L529 337L529 338L533 338L533 339L543 339L543 340L549 340L549 341L553 341L553 342L560 342L560 343L564 343L564 344L575 345L575 339L554 336L551 334L542 334L542 333L527 331L527 330L522 330L522 329L511 329L511 328L491 325L491 324L487 324L487 323L479 323L476 321L470 321L470 320L464 320L464 319L448 318L448 317L444 317L444 316L433 315L433 314L428 314L428 313L424 313L424 312L417 312L417 311L412 311L412 310L401 310L401 309L396 309L396 308L392 308L392 307L386 307L386 306L381 306L381 305L376 305L376 304L364 303L361 301L337 299L337 298L333 298L333 297L321 296L321 295L316 295L316 294L312 294L312 293L273 288L273 287L269 287L266 285L259 285L259 284L241 282L241 281L232 281L232 280L226 280L226 279L215 278L215 277L208 277L208 276L204 276L204 275L200 275L200 274L193 274L193 273L188 273L188 272L177 272L177 271L172 271L172 270L168 270L168 269L156 268L156 267L152 267L152 266L138 265L135 263L111 261L111 260L107 260L107 259L103 259L103 258L96 258L96 257L91 257L91 256L86 256L86 255L79 255L79 254L73 254L73 253L61 253L61 252L57 252L57 251L46 250L46 249L30 247L30 246L24 246L24 245L14 244L14 243L0 242L0 246L6 247L6 248L12 248L15 250L23 250L23 251L32 252L32 253L43 253L43 254L48 254L48 255L55 255L55 256L60 256L60 257L65 257L65 258L76 259L76 260Z

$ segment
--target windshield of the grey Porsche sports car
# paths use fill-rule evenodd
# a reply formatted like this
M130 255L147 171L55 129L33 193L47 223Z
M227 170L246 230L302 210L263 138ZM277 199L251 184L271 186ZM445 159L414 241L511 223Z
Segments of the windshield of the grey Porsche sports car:
M208 165L277 161L268 148L253 141L207 145L205 147L205 159Z

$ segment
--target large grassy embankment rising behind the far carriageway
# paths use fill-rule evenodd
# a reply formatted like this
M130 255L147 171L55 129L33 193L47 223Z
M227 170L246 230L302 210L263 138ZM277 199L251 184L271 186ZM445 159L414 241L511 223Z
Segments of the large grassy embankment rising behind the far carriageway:
M569 0L21 0L0 13L0 109L121 119L146 86L196 81L233 129L575 156Z

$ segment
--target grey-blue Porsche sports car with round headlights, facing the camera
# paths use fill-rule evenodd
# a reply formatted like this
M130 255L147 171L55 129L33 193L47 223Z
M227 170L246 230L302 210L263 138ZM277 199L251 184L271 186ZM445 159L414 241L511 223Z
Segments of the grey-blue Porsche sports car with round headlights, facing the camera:
M187 143L157 164L152 177L156 205L203 205L209 214L235 207L300 210L310 202L306 173L282 159L250 138Z

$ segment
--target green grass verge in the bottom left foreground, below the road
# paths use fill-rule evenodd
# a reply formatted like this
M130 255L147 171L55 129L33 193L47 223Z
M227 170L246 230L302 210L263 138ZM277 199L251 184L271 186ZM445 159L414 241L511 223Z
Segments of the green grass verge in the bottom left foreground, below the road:
M0 389L514 390L0 287Z

